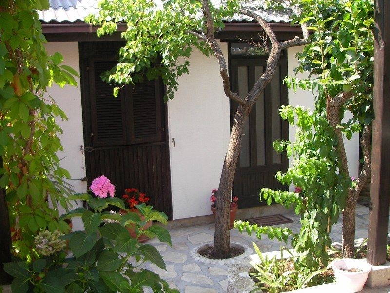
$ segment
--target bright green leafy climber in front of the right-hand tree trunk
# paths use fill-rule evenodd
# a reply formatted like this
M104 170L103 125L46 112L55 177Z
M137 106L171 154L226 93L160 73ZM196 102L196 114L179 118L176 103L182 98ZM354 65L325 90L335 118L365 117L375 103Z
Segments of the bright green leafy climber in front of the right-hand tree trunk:
M266 233L270 239L291 244L299 254L300 271L309 275L320 267L327 266L331 247L331 225L336 223L345 206L345 192L351 188L351 178L338 173L337 139L324 113L311 112L303 107L283 106L281 117L291 125L298 126L295 141L276 141L278 152L286 151L293 157L292 167L276 177L283 184L293 184L297 192L274 191L263 188L261 198L267 204L273 201L286 208L294 207L300 215L301 229L293 233L287 228L257 227L238 222L240 231L255 232L257 237ZM295 122L296 121L296 122Z

